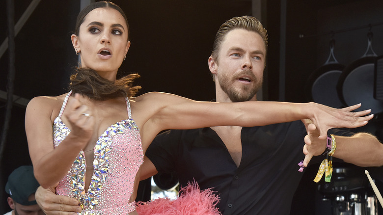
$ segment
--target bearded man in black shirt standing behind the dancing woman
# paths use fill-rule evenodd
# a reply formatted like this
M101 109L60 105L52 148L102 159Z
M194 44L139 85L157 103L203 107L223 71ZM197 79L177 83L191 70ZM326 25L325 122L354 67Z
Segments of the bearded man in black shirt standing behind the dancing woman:
M238 17L224 23L208 61L217 102L256 101L266 53L266 29L258 20ZM165 132L148 148L141 179L175 171L181 187L195 180L201 189L213 188L220 197L217 207L224 215L287 215L302 176L298 163L305 159L307 164L326 148L326 140L317 138L315 126L305 123L309 133L306 137L301 121ZM334 157L357 165L383 165L383 145L374 136L361 133L353 137L335 135L335 139ZM362 149L360 144L364 144ZM369 156L360 156L367 153ZM41 194L46 211L79 210L73 206L74 199L41 192L46 196Z

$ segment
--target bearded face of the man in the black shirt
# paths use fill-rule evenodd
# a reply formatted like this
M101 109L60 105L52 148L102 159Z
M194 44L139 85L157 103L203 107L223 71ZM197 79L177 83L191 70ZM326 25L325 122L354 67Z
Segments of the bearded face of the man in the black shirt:
M235 29L226 34L219 50L216 82L232 102L255 99L262 87L266 49L262 37Z

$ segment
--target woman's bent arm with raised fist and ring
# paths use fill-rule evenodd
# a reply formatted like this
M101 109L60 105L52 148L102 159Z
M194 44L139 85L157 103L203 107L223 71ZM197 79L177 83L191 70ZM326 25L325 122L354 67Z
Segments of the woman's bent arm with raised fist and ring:
M80 150L87 144L94 124L92 116L81 114L86 107L78 104L76 99L69 100L65 112L68 113L71 133L54 150L52 125L55 117L53 112L57 108L55 104L56 98L36 97L29 102L26 110L29 154L35 177L44 188L54 186L65 176Z

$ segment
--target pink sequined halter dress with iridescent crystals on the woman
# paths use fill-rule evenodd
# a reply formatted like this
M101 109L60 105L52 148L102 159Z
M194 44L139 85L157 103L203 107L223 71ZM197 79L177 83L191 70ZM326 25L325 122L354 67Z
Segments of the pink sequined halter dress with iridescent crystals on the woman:
M65 97L60 113L55 118L55 147L70 133L61 121L61 115L71 92ZM94 170L88 190L85 192L84 189L86 163L83 151L56 188L56 194L73 197L81 202L82 215L127 215L136 210L136 202L128 202L133 194L138 168L143 162L143 153L129 99L125 98L125 101L129 119L111 125L96 142Z

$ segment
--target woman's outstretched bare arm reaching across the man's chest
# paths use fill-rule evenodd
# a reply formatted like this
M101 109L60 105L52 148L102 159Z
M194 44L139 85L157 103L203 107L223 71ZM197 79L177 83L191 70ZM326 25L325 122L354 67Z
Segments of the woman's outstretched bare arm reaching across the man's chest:
M148 93L143 96L146 98L138 101L148 102L148 105L151 104L158 110L149 113L151 115L149 121L155 123L161 130L223 125L252 127L308 118L319 129L320 138L326 138L330 128L356 128L365 125L373 117L372 115L361 117L370 110L351 112L359 108L360 104L336 109L312 102L215 103L197 102L165 93Z

